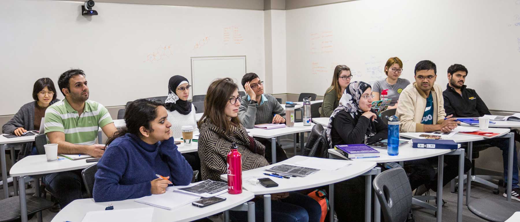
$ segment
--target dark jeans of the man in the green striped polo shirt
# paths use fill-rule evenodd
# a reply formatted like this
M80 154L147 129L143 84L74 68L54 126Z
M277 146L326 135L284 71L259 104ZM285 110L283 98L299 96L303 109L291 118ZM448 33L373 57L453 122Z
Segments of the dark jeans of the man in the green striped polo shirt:
M81 178L82 170L51 173L43 177L45 188L58 199L61 209L70 202L83 199L83 191L86 191Z

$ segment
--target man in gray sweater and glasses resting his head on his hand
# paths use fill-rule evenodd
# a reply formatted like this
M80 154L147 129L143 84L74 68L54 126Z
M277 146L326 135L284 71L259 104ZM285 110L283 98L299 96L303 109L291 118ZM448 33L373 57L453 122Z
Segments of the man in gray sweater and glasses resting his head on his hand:
M242 97L242 103L238 109L238 118L245 128L252 129L255 124L285 123L285 110L278 103L275 96L264 94L263 81L254 73L245 74L242 77L242 87L247 93ZM254 137L264 144L265 158L270 161L271 141L266 138ZM287 155L282 147L276 144L276 161L287 160Z

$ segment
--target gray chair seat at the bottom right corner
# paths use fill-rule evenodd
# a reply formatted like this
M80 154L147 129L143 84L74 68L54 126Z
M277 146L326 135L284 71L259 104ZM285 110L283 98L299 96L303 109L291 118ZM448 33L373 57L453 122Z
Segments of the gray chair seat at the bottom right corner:
M515 212L520 211L520 203L505 200L473 199L467 204L467 209L487 221L502 222L509 219Z

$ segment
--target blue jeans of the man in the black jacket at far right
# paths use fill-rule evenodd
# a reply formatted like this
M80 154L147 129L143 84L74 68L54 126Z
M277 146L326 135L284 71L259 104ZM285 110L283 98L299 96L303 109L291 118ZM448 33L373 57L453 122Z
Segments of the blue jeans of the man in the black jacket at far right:
M502 150L502 162L504 163L504 184L508 182L508 162L509 162L509 138L491 138L489 140L473 142L473 144L490 144ZM516 156L516 143L513 144L513 181L512 188L518 186L518 158Z

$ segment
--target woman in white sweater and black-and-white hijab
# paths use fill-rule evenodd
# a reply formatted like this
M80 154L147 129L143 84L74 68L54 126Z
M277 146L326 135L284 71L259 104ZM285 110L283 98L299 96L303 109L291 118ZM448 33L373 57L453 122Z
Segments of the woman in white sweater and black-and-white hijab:
M168 82L168 98L165 107L168 112L168 121L172 123L170 128L174 138L180 138L183 126L193 126L197 130L197 120L195 117L195 107L188 101L190 95L190 85L188 79L183 76L172 76Z

